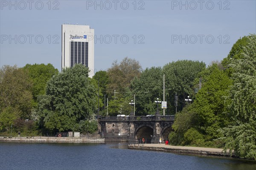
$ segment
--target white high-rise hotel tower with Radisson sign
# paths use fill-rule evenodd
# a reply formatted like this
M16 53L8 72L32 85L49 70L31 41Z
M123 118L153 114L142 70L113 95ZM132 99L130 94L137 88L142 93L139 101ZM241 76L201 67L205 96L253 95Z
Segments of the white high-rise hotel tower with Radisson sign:
M93 77L94 29L90 29L90 26L63 24L61 32L61 69L81 63L89 68L89 77Z

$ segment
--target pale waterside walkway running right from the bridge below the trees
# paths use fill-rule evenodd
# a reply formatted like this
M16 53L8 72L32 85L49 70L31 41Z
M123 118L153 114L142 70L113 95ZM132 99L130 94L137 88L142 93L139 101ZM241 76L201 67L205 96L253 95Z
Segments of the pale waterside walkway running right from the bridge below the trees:
M191 153L191 154L201 154L201 155L211 155L211 156L229 156L229 150L224 153L223 149L218 148L207 148L207 147L186 147L186 146L172 146L166 144L130 144L129 149L139 149L139 150L155 150L155 151L165 151L174 153Z

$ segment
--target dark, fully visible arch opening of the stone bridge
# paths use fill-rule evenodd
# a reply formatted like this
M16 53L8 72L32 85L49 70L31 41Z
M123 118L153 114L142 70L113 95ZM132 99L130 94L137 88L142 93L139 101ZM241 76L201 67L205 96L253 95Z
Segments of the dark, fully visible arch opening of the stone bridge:
M153 135L154 130L153 126L151 125L140 125L134 131L134 138L135 139L148 139L151 140L151 135Z

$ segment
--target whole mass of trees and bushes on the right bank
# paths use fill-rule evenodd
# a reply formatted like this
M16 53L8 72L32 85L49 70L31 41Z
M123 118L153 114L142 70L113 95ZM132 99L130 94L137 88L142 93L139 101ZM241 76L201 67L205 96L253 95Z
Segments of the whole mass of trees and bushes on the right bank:
M256 159L256 35L239 39L222 63L198 74L202 88L175 116L170 143L224 147Z

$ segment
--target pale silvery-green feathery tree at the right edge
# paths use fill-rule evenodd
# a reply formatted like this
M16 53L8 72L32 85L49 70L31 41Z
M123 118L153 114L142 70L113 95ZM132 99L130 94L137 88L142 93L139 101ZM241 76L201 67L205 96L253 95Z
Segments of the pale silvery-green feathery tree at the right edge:
M233 125L224 128L225 149L236 156L256 160L256 35L248 36L241 59L231 59L234 85L230 88L229 118Z

